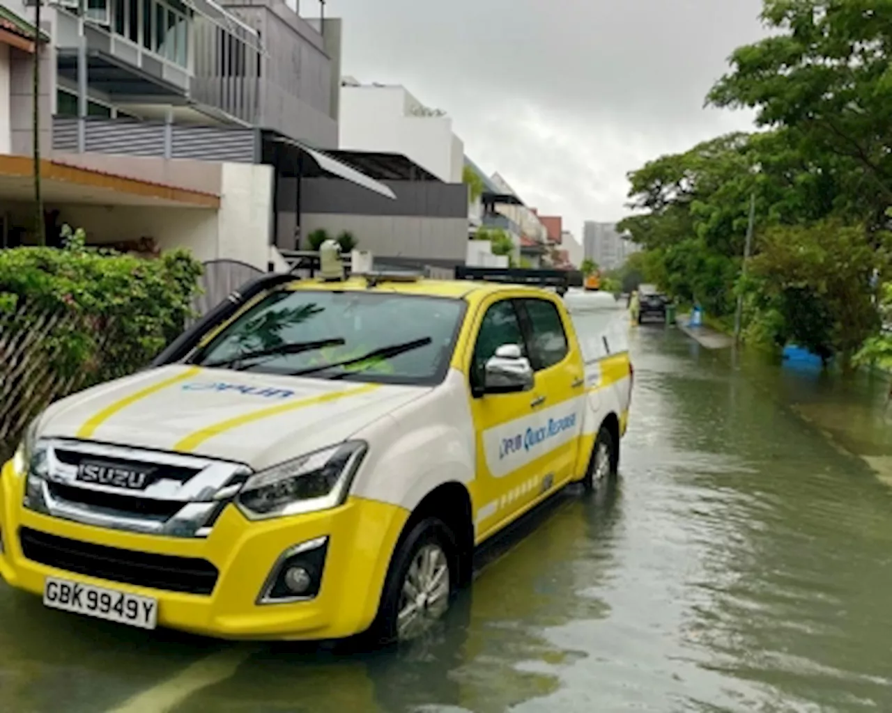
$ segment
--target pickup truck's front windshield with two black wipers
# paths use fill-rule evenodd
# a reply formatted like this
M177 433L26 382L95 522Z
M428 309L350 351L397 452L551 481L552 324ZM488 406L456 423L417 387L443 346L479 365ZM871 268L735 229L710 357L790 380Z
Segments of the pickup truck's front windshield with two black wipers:
M439 383L464 311L458 299L277 291L229 324L192 362L318 379Z

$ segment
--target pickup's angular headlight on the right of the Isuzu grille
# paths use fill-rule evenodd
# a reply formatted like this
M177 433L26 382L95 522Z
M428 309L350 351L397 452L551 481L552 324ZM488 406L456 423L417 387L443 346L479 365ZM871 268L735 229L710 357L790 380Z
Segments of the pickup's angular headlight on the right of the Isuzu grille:
M347 441L255 473L235 502L252 520L336 507L366 448L363 441Z

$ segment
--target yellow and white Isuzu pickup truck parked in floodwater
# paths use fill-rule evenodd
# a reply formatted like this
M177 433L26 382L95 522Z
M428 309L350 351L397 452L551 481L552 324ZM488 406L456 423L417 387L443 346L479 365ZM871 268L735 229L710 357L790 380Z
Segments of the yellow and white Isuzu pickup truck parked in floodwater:
M476 545L615 475L632 365L609 307L406 275L261 280L153 368L29 426L0 476L0 575L149 629L411 638Z

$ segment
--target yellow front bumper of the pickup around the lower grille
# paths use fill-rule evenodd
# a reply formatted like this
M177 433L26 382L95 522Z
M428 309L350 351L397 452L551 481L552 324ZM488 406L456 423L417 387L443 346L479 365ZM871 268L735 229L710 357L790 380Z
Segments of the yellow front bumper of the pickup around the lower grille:
M6 463L0 475L0 576L14 587L42 594L46 577L151 596L158 625L233 639L336 639L358 634L375 618L391 553L409 512L351 497L324 512L252 522L227 507L206 539L139 535L60 520L21 506L24 479ZM210 561L219 578L209 595L179 594L56 569L27 559L20 529L105 545ZM257 603L260 590L286 550L329 537L322 585L306 602Z

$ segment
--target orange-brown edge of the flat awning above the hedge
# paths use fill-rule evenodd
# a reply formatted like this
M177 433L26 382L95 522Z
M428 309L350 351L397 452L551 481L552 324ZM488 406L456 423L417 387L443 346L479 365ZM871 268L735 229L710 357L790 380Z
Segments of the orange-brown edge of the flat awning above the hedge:
M105 206L168 206L218 209L220 199L172 185L141 181L104 171L40 161L40 184L48 204L82 203ZM0 201L31 201L34 197L34 161L27 156L0 154Z

